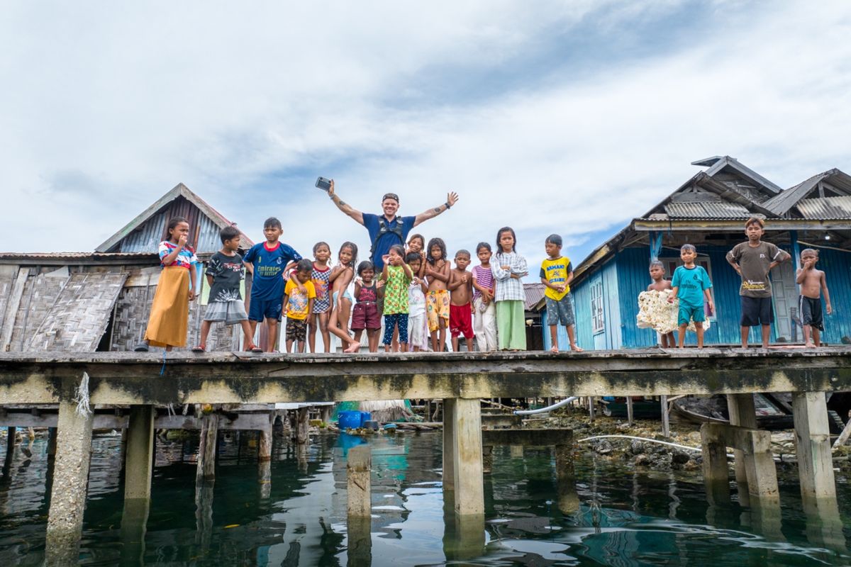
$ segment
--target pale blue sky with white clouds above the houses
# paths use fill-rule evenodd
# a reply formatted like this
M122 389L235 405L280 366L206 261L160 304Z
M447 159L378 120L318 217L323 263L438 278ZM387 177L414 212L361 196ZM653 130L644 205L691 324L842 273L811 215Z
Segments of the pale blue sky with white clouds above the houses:
M2 252L94 250L184 183L308 256L366 230L314 188L450 255L517 231L588 252L734 156L781 187L851 172L851 3L7 3Z

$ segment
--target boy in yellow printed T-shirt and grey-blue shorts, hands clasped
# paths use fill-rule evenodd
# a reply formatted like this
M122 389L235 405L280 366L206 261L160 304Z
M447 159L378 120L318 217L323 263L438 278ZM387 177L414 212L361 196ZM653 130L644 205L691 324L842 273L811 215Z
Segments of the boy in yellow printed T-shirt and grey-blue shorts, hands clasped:
M561 236L547 236L544 246L547 258L540 263L540 282L546 286L544 298L552 342L550 352L558 352L559 323L567 328L570 349L574 352L582 352L576 344L574 303L570 297L570 282L574 279L574 267L570 264L570 258L562 256Z

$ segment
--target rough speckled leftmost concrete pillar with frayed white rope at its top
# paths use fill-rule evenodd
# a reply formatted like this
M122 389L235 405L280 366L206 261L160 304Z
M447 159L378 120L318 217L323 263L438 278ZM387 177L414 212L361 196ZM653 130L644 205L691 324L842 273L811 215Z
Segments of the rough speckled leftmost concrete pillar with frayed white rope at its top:
M73 401L60 402L59 439L44 552L46 565L77 564L89 485L93 421L90 413L78 414Z

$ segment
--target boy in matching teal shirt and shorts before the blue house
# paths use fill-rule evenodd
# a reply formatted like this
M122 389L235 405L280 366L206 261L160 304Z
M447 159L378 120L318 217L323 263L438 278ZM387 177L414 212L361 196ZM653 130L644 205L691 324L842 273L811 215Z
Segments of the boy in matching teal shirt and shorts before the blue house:
M694 264L695 258L697 258L697 250L694 246L683 244L683 247L680 248L680 259L683 260L683 265L674 270L674 277L671 280L673 292L668 301L673 303L674 298L680 300L680 312L677 317L677 324L679 325L677 347L680 349L683 348L686 339L686 327L692 320L694 320L694 330L697 332L697 348L703 349L704 300L709 305L710 313L715 310L709 292L712 286L712 282L709 281L709 274L702 266Z

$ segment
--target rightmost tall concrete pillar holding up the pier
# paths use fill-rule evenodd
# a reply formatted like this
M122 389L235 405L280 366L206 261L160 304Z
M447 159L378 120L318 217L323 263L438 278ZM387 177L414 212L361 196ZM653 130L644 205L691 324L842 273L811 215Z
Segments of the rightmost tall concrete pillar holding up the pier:
M837 485L833 479L831 435L823 392L792 395L795 447L801 497L808 506L836 506Z

